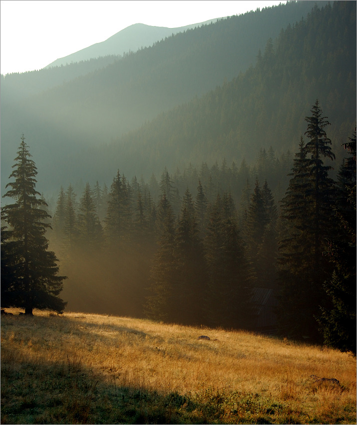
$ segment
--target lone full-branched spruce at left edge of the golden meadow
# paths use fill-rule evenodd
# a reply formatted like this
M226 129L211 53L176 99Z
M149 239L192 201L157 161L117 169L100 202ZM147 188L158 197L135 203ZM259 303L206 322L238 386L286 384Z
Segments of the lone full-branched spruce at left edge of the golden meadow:
M5 269L7 281L2 306L24 308L29 315L34 308L62 312L67 303L59 294L66 276L57 274L58 259L48 251L46 229L51 225L46 221L51 217L36 190L37 167L31 156L23 134L9 177L15 181L6 185L11 189L3 196L16 202L2 208L2 219L7 223L2 232L2 271Z

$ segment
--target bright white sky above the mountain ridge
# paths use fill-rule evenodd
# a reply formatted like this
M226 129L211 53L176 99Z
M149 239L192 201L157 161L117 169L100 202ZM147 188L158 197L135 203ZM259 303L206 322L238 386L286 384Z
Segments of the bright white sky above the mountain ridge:
M171 28L285 0L1 0L0 71L41 69L134 23Z

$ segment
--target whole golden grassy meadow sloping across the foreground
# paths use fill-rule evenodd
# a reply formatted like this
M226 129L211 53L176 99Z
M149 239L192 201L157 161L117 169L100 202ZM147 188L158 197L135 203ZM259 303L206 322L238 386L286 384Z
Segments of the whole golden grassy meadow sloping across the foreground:
M356 423L346 353L243 331L7 310L1 423Z

